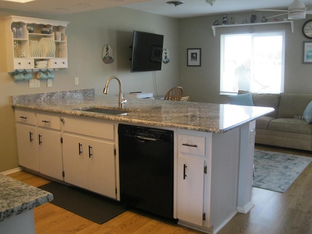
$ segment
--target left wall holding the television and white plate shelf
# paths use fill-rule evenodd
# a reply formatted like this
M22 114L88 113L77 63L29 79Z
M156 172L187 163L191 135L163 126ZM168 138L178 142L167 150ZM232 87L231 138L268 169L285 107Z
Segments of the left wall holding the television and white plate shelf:
M0 33L0 172L18 167L14 112L10 96L46 93L63 90L95 88L102 94L107 78L117 75L123 93L131 91L153 92L156 89L152 72L130 73L130 58L133 30L164 35L164 47L171 53L171 61L162 64L155 72L158 96L164 95L178 84L178 20L143 13L123 7L109 8L66 16L46 16L0 9L0 32L4 32L3 16L17 15L43 19L69 21L65 31L68 39L68 69L55 71L53 86L28 88L27 81L14 82L5 71L4 35ZM110 44L114 49L115 61L105 64L101 59L102 47ZM79 85L74 85L74 77ZM118 94L117 81L112 81L108 95Z

